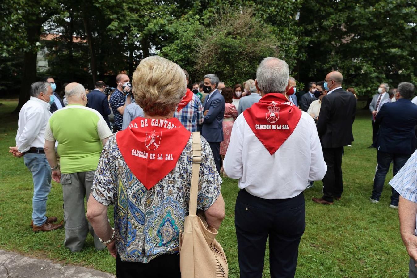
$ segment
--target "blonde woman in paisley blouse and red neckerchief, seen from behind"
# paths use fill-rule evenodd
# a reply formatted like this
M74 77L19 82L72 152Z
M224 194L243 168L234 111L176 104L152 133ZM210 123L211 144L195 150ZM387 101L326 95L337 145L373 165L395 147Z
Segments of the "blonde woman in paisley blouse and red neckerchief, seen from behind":
M139 63L132 85L144 118L132 120L104 146L87 216L116 258L118 278L181 277L179 231L188 215L193 142L173 114L186 93L186 76L177 64L151 56ZM224 218L222 180L202 137L201 159L197 208L209 228L218 229Z

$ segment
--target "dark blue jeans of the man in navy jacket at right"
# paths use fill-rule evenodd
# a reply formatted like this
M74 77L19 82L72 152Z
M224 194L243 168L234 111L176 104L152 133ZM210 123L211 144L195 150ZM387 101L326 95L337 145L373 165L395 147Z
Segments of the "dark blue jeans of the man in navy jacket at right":
M389 165L391 161L394 161L394 168L393 174L396 175L398 171L404 166L404 164L409 159L410 155L407 154L400 154L400 153L385 153L378 150L377 153L377 173L375 173L374 179L374 190L372 190L371 198L374 200L379 201L379 197L381 197L382 188L384 188L385 183L385 176L388 173ZM391 188L392 195L391 195L391 205L398 205L399 201L399 193L394 189Z

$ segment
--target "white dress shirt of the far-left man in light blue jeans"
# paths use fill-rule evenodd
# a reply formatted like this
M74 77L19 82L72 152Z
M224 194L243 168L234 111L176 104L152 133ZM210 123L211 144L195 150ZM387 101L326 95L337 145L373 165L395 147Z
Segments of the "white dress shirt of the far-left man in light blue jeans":
M19 113L16 146L21 153L30 147L43 148L45 145L45 128L51 116L49 103L39 98L30 97Z

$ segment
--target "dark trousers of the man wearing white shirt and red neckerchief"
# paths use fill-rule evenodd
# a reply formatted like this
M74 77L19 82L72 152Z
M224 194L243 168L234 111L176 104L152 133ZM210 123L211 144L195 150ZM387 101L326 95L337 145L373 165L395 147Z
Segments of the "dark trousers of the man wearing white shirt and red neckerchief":
M261 278L269 237L271 277L294 277L298 245L306 227L303 193L290 199L262 199L241 189L235 226L241 278Z

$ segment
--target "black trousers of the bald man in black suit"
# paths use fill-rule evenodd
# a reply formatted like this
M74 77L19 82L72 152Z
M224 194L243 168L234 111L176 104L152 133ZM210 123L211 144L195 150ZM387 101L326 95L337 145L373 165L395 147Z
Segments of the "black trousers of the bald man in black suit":
M342 197L342 153L343 147L323 148L324 162L327 165L323 178L323 199L327 202L333 202L334 197Z

